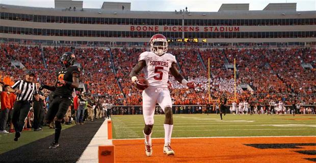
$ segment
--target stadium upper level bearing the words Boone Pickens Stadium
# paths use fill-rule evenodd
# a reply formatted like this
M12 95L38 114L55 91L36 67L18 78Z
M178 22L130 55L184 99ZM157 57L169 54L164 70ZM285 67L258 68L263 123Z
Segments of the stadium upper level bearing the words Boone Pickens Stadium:
M0 39L146 45L148 38L161 33L171 45L316 44L316 11L296 11L296 4L269 4L262 11L249 11L249 4L223 4L219 12L130 11L103 6L70 9L0 5Z

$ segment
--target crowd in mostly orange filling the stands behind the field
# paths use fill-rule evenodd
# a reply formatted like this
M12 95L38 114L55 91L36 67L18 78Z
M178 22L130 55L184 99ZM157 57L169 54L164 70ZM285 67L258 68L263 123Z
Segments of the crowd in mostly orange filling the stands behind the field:
M141 91L130 82L128 74L145 50L1 44L0 75L17 80L23 77L24 69L33 69L38 74L35 82L52 84L60 67L60 56L65 51L73 51L88 94L109 98L114 105L141 105ZM208 102L208 58L212 100L221 94L234 99L234 71L225 65L233 65L235 59L237 100L255 99L262 104L271 99L283 100L285 104L293 100L306 104L316 102L315 68L304 69L301 65L316 66L314 48L169 49L169 52L176 57L181 74L196 84L195 90L189 90L170 75L168 86L174 104ZM21 62L25 68L12 66L12 61ZM239 86L243 83L253 91L243 90Z

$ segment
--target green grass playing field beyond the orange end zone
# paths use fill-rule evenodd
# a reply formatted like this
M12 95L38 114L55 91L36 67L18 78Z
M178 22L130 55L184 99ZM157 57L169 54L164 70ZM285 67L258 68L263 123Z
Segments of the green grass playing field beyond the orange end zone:
M164 138L164 115L154 115L152 138ZM173 138L316 135L315 115L173 115ZM143 138L142 115L112 116L113 139Z

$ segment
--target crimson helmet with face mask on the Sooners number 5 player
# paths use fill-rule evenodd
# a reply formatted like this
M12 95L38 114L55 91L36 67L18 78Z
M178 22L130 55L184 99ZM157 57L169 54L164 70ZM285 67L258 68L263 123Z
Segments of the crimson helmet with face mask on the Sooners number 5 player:
M155 34L150 38L150 51L162 56L168 50L167 38L162 34Z

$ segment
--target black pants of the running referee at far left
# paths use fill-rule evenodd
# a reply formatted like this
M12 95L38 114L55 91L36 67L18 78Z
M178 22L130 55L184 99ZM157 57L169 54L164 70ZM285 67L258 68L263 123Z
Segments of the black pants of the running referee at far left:
M21 132L31 108L31 101L15 101L12 111L12 123L15 132Z

